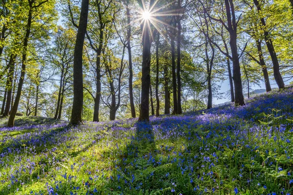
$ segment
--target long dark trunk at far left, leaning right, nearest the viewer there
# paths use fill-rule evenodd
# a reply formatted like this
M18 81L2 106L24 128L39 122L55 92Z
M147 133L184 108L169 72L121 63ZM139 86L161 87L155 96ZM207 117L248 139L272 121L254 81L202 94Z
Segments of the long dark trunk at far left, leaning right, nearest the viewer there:
M21 99L21 91L22 91L22 85L23 85L23 80L24 80L24 76L25 76L25 68L26 68L26 52L27 52L27 45L28 45L28 39L29 39L29 35L30 35L30 30L31 30L31 23L32 23L32 3L31 1L29 1L30 3L30 8L28 11L28 19L27 19L27 25L26 25L26 32L25 32L25 37L24 37L24 41L23 41L23 53L22 53L22 64L21 64L21 77L19 80L19 85L17 88L17 93L16 93L16 97L15 97L15 101L13 104L13 107L11 109L11 113L10 113L10 117L8 120L8 127L13 127L14 126L14 119L18 110L18 106L20 103L20 99Z

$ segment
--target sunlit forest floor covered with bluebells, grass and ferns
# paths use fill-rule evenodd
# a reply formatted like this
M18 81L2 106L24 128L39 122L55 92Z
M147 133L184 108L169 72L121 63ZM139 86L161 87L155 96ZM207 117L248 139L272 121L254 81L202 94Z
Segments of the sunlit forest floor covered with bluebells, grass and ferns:
M293 87L179 116L0 119L0 195L290 195Z

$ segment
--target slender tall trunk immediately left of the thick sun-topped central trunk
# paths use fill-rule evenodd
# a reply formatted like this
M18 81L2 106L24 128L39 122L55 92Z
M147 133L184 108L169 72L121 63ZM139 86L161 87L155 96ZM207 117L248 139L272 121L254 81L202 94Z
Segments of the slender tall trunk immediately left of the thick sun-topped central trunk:
M131 38L131 16L129 10L129 0L126 0L126 14L127 14L127 50L128 50L128 65L129 65L129 101L130 101L130 110L131 110L131 117L135 118L135 107L134 107L134 100L133 100L133 86L132 86L132 78L133 78L133 70L132 70L132 55L131 55L131 45L130 45L130 38Z

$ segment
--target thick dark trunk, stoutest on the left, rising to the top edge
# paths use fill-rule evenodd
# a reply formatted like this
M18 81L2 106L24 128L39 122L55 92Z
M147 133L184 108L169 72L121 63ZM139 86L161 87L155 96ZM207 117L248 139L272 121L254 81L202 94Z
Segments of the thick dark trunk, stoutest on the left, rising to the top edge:
M71 112L71 125L82 123L83 102L84 102L84 82L83 82L83 48L84 37L87 26L88 1L82 1L81 16L74 47L73 61L73 105Z

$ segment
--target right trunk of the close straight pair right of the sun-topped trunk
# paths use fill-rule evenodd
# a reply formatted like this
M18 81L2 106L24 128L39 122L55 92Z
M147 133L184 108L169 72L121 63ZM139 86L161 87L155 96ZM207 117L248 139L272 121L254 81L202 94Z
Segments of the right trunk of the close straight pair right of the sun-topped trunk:
M178 0L178 9L181 8L180 0ZM177 35L177 113L182 114L182 107L181 107L181 77L180 77L180 69L181 69L181 22L180 22L180 14L176 16L177 24L178 24L178 35Z

